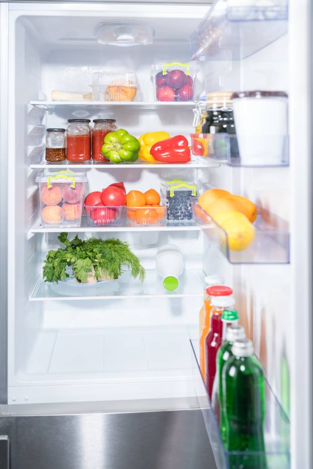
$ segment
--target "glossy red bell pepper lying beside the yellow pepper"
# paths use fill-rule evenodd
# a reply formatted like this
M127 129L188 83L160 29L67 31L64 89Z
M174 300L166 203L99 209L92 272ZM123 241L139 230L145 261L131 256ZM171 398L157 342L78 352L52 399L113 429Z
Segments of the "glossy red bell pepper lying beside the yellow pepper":
M175 137L154 143L150 153L160 163L188 163L190 161L188 140L183 135L175 135Z

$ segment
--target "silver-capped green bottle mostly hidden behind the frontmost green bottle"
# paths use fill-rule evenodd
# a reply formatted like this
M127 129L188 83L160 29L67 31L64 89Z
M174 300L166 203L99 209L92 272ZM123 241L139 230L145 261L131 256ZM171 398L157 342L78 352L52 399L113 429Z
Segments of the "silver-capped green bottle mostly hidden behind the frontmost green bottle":
M219 383L222 383L222 372L224 364L227 362L231 353L231 347L233 342L237 340L244 339L246 337L245 329L242 326L237 324L233 324L228 326L226 329L226 340L223 345L220 347L218 354L217 354L217 361L216 366L218 372L216 376L218 377L218 401L219 401L219 428L221 432L222 441L225 444L226 441L226 422L225 422L225 412L224 412L224 395L223 395L223 387L219 386Z

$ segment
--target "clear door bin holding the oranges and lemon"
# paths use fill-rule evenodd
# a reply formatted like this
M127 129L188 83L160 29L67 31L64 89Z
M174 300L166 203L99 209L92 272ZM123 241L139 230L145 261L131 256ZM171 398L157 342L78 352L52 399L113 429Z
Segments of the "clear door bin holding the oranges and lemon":
M210 248L217 248L232 264L288 264L289 231L285 220L258 207L254 222L254 241L243 251L229 248L227 233L195 202L194 219L210 239Z

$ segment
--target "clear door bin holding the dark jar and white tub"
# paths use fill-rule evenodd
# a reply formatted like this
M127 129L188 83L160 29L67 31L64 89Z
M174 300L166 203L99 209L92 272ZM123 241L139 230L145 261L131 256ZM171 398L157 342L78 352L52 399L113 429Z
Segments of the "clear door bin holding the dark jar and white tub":
M191 150L193 154L207 161L215 161L229 166L243 167L280 167L289 165L289 138L275 137L271 147L275 145L279 149L278 154L272 157L262 152L261 155L253 155L251 152L244 160L240 157L239 145L236 135L228 134L191 134ZM244 136L245 138L245 136ZM249 145L253 148L254 139L249 137ZM269 137L272 138L273 137ZM266 140L266 136L264 136ZM250 143L251 140L251 143Z

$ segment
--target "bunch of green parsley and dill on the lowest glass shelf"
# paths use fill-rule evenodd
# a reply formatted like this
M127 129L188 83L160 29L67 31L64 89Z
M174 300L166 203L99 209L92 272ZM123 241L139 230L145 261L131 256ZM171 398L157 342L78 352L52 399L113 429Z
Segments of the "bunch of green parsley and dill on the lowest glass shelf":
M124 268L130 270L133 278L143 282L145 271L138 257L129 249L129 244L119 239L89 238L82 241L77 235L72 241L67 233L60 233L58 239L65 245L56 251L48 251L42 268L45 282L56 282L69 277L66 266L72 267L77 282L86 282L89 272L94 270L99 280L103 276L118 278Z

